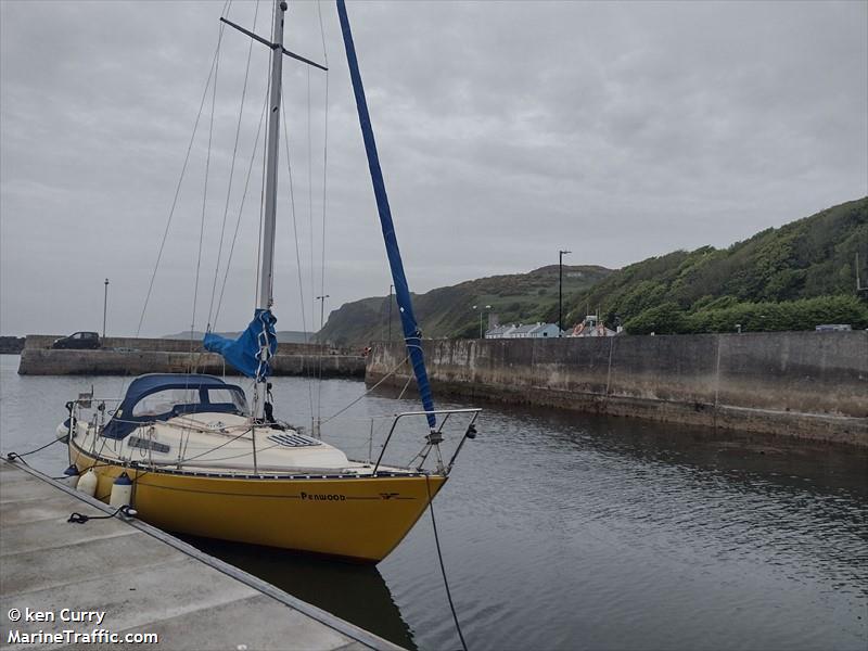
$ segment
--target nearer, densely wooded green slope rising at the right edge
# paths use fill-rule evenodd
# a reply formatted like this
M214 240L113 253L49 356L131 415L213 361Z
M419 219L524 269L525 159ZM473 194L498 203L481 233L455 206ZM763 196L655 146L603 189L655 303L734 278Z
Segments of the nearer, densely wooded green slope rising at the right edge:
M629 324L661 306L690 315L737 304L852 296L857 251L865 278L868 197L764 230L728 248L676 251L629 265L577 296L567 321L579 319L586 304L600 306L609 323Z

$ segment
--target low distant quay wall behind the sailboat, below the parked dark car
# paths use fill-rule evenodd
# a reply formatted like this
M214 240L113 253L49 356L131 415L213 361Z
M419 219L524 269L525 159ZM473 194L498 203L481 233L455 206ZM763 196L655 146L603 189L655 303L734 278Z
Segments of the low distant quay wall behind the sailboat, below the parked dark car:
M192 363L191 363L192 360ZM363 378L365 358L350 355L288 355L282 350L272 359L273 375L318 374L323 378ZM214 353L171 350L52 350L27 346L22 350L21 375L141 375L143 373L196 372L214 375L237 375Z

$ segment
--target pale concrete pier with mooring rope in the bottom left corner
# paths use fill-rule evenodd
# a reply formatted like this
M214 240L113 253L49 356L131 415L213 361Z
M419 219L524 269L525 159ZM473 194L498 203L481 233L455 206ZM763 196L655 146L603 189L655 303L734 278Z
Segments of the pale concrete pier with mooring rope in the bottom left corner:
M0 647L400 649L143 522L72 512L113 509L0 460Z

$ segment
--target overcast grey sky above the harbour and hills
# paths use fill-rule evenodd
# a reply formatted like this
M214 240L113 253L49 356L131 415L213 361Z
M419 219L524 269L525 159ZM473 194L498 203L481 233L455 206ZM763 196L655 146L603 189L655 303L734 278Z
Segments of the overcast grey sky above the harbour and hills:
M386 294L391 279L334 4L290 4L286 47L331 67L326 148L327 76L284 61L304 301L281 143L275 311L278 329L301 330L319 326L324 151L327 314ZM101 330L105 277L108 334L136 333L222 10L0 0L0 333ZM237 1L229 18L252 27L255 11ZM620 267L726 246L868 194L866 2L348 11L416 292L556 264L559 248ZM270 13L261 2L257 33L269 35ZM214 321L248 43L231 28L220 38L214 119L209 89L142 335L189 329L194 294L196 328ZM254 46L218 330L243 328L254 304L260 155L240 213L267 76Z

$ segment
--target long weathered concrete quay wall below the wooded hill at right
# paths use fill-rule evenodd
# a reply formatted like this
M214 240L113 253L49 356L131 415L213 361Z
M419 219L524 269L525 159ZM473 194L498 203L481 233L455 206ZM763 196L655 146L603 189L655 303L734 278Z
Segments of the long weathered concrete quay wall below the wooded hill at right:
M433 386L468 398L868 446L868 332L423 343ZM404 385L399 344L366 378Z

